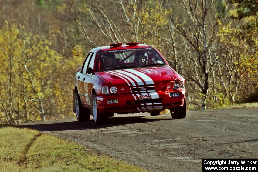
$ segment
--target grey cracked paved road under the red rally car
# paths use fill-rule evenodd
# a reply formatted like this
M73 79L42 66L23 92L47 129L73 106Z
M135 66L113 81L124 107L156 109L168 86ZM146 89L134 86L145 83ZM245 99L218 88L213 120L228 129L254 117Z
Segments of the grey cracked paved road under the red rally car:
M202 171L202 158L258 158L258 109L115 115L107 125L75 118L21 124L151 171Z

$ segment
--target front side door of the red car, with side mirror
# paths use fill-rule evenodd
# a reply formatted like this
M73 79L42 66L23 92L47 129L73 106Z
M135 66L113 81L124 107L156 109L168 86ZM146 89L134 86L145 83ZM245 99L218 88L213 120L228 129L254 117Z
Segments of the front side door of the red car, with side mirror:
M92 51L92 54L90 55L89 58L89 63L87 65L87 69L88 68L92 68L94 70L94 66L95 66L95 56L96 56L96 51ZM86 71L87 71L86 69ZM87 73L85 75L85 80L84 80L84 90L85 90L85 103L87 105L90 105L90 96L92 94L92 89L93 89L93 85L94 85L94 81L92 79L92 75L93 73Z

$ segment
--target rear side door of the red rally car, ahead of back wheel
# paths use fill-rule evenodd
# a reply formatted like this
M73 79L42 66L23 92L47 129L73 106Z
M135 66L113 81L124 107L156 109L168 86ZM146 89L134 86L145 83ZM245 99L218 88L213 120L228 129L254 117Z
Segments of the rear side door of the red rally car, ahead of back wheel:
M81 71L79 73L77 73L77 81L78 81L78 93L80 95L80 99L81 102L83 104L86 103L86 95L85 95L85 79L86 79L86 70L87 70L87 66L89 64L90 61L90 56L91 56L92 52L89 52L88 55L86 56L84 62L83 62L83 66L81 68Z

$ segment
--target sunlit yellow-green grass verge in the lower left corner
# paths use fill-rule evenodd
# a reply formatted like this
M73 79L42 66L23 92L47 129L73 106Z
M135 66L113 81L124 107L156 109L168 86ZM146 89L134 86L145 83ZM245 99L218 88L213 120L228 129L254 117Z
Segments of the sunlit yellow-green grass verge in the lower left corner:
M0 126L0 171L145 171L36 130Z

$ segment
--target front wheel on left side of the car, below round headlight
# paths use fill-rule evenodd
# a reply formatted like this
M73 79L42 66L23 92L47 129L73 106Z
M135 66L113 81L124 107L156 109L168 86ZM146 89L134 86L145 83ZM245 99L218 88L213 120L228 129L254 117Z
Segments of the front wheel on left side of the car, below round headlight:
M92 97L92 103L91 103L91 112L93 115L93 119L96 125L102 125L108 122L109 115L104 113L98 112L98 106L97 106L97 96L96 94Z

